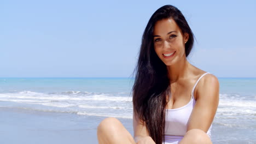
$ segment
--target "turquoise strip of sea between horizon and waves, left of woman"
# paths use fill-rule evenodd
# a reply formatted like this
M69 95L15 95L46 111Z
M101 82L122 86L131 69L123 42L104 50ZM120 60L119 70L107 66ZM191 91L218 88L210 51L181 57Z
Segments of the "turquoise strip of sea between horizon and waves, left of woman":
M0 78L0 92L130 92L129 78Z

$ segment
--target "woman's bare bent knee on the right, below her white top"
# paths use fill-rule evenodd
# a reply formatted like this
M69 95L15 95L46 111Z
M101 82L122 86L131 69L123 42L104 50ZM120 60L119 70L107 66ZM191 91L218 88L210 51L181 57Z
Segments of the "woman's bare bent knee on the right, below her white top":
M210 137L201 129L187 131L179 144L212 144Z

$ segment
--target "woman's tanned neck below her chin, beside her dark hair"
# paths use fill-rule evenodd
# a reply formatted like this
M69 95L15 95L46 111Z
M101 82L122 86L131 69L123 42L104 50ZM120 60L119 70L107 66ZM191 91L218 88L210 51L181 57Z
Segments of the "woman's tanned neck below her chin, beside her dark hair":
M168 78L170 82L176 82L178 79L182 79L188 75L190 63L187 61L187 58L184 56L181 61L167 66Z

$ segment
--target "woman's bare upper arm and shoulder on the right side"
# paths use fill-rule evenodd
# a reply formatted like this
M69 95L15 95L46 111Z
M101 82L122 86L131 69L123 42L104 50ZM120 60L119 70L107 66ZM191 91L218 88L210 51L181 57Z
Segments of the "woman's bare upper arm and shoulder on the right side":
M191 113L188 129L201 129L205 132L211 126L219 104L219 81L212 74L205 75L197 83L196 104Z

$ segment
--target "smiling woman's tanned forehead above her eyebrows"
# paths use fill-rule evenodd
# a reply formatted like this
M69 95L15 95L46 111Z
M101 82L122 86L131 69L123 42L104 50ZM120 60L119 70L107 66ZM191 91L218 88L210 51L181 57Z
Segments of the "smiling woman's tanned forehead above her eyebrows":
M155 23L153 35L164 36L172 31L179 32L177 23L173 19L162 19Z

